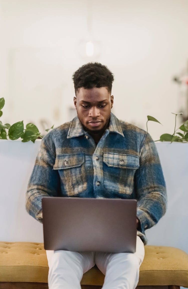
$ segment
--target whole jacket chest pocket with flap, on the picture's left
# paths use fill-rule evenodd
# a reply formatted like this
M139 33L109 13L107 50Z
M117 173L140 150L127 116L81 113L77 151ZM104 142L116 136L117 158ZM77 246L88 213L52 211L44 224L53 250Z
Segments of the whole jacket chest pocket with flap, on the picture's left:
M67 196L75 196L87 189L84 153L57 155L53 169L58 170Z

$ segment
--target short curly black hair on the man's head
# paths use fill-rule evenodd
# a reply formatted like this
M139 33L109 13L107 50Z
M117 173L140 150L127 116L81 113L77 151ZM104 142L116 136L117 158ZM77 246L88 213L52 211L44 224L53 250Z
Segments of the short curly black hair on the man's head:
M114 80L113 73L98 62L89 62L82 65L72 75L72 79L75 86L75 93L79 91L79 88L83 87L90 89L93 87L106 87L108 92L111 93L112 82Z

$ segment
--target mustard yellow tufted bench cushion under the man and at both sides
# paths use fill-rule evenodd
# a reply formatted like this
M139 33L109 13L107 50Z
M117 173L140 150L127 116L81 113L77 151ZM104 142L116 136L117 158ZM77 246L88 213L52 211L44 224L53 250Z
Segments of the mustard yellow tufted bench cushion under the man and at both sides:
M95 266L83 275L82 285L102 286L104 275ZM0 242L1 282L48 282L43 243ZM188 287L188 255L173 247L145 246L138 286ZM0 287L3 288L3 287Z

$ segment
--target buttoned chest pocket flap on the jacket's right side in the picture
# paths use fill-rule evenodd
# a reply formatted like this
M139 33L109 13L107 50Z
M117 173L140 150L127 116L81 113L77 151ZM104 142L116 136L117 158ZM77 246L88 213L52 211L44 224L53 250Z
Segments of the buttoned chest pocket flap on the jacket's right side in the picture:
M116 168L139 168L139 157L122 153L104 153L103 162Z

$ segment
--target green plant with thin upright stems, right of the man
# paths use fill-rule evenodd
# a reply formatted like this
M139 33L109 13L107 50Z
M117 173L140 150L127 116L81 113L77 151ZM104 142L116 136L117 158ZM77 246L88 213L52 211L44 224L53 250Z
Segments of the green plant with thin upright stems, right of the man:
M172 112L172 114L175 114ZM178 114L182 114L182 112L178 113ZM181 132L176 132L178 129L176 129L176 117L178 114L175 114L175 127L174 127L174 133L173 134L162 134L160 136L160 141L161 142L188 142L188 120L185 121L185 123L183 123L183 125L181 125L178 129L180 129L181 131L183 131L183 133ZM157 123L160 123L156 118L148 115L148 121L155 121ZM147 127L147 131L148 131L148 121L146 122L146 127ZM161 124L161 123L160 123ZM176 135L175 135L176 134ZM178 136L177 136L178 134ZM157 140L156 140L157 141Z

